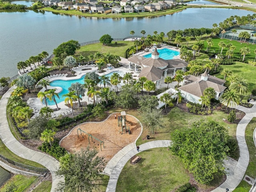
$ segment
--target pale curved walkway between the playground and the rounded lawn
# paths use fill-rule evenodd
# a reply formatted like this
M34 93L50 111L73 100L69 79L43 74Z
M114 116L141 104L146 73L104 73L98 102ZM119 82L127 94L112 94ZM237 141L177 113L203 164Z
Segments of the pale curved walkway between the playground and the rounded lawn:
M152 148L158 147L168 147L170 145L170 140L156 140L146 142L140 145L140 152L145 151ZM106 168L104 169L104 174L110 176L108 181L108 186L106 192L115 192L116 191L116 184L118 177L128 160L138 154L135 143L131 143L120 150L107 164Z

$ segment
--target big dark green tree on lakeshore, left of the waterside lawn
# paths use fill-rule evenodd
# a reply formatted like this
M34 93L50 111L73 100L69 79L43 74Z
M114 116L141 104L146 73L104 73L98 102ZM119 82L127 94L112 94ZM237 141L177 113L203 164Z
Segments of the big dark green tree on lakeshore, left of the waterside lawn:
M69 40L68 42L64 42L60 44L57 48L53 50L53 54L56 57L62 57L62 54L66 54L67 56L74 55L76 50L80 49L80 44L78 41Z

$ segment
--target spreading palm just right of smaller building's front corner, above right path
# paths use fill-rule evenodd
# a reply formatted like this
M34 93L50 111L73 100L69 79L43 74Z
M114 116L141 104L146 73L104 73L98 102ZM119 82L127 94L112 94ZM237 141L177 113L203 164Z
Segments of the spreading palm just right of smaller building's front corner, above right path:
M239 95L234 90L226 90L220 97L220 102L227 107L239 104L239 101Z

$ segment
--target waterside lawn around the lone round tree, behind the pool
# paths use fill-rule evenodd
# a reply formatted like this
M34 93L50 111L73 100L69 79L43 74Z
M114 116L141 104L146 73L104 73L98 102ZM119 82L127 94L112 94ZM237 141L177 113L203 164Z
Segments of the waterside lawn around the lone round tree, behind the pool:
M89 56L90 54L95 54L96 52L100 53L111 53L113 55L118 55L124 57L125 51L134 45L133 41L118 41L115 44L112 41L112 44L103 45L102 43L95 43L86 46L82 46L79 50L76 51L76 56L82 54L84 57Z

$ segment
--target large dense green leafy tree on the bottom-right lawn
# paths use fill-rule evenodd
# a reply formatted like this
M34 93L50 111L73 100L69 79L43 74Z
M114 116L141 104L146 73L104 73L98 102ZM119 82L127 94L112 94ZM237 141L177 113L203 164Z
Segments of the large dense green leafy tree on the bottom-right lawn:
M188 170L201 184L209 184L223 173L223 160L228 147L227 130L214 121L194 122L171 134L170 150L182 158Z

